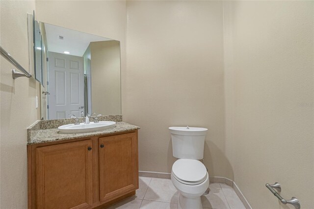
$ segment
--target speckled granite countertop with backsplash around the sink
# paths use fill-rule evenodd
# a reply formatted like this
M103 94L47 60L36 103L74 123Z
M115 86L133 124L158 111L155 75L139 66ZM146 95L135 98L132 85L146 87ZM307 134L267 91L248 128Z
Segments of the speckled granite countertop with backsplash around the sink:
M62 141L75 138L104 135L110 133L133 131L140 129L137 126L122 122L122 116L102 116L99 118L100 121L115 121L116 126L112 129L104 131L95 131L89 133L74 133L74 134L63 134L59 133L58 127L66 124L73 123L73 119L59 119L59 120L44 120L36 121L33 125L27 129L27 145L40 144L53 141ZM80 118L80 122L83 122L84 118Z

